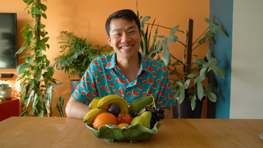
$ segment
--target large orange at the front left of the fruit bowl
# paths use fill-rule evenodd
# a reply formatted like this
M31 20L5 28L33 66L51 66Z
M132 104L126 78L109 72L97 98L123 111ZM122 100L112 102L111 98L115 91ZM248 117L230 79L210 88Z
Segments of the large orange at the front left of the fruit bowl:
M98 130L102 125L118 125L117 118L111 113L101 113L93 121L93 128Z

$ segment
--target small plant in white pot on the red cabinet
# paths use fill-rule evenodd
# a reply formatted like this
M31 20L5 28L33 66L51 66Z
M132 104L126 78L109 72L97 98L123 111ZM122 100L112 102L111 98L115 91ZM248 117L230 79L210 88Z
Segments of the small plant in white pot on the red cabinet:
M0 84L0 100L9 100L12 99L11 94L12 94L12 87L8 84L5 83L6 80L2 79L2 74L0 74L0 79L2 80Z

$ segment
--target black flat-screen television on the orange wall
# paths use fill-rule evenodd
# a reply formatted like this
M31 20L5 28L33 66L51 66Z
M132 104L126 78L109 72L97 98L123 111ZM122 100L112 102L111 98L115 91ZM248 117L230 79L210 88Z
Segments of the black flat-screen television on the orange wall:
M16 13L0 13L0 68L16 68Z

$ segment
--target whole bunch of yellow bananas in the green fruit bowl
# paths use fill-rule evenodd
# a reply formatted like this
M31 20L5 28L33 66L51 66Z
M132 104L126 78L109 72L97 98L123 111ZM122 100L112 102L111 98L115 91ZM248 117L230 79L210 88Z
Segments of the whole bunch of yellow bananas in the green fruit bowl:
M108 106L111 103L118 104L121 107L121 113L129 114L129 106L121 96L108 95L89 104L90 111L85 115L83 122L92 122L99 114L108 112Z

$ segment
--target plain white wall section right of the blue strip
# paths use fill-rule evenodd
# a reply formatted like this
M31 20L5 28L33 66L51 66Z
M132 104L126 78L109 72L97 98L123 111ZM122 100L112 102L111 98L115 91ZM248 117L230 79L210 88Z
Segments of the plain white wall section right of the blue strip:
M233 1L230 118L263 119L263 1Z

